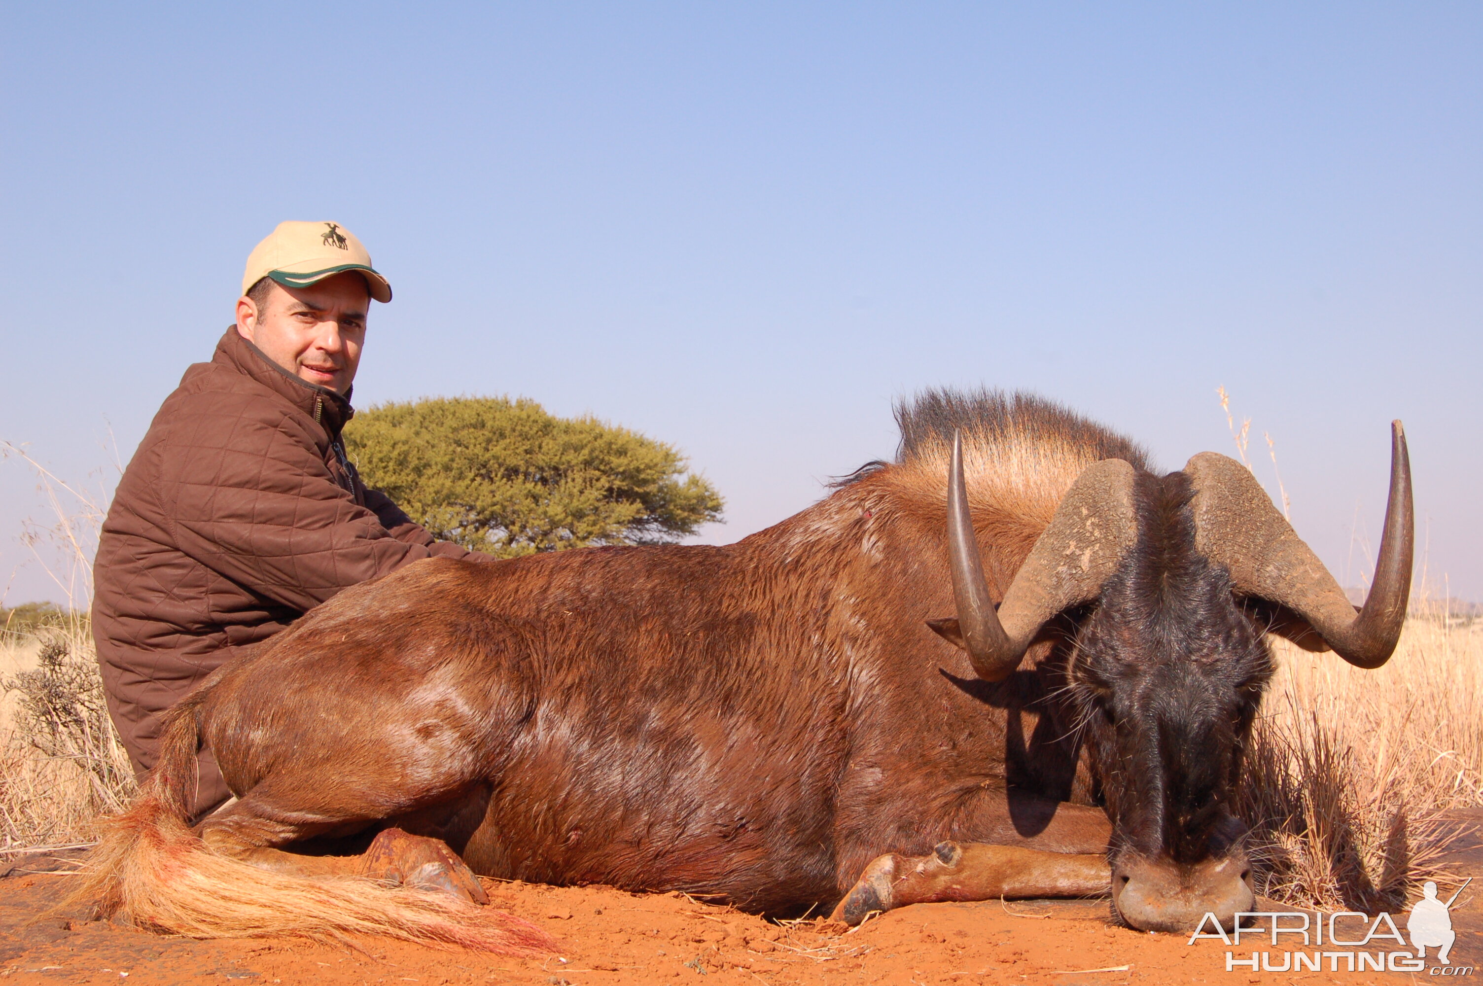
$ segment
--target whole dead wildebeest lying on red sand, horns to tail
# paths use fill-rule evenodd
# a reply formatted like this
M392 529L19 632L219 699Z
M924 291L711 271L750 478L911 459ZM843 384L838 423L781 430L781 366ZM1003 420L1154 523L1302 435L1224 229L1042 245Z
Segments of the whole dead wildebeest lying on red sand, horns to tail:
M1109 887L1137 928L1249 910L1229 805L1265 633L1390 657L1398 423L1355 615L1225 457L1160 476L1023 394L897 420L894 463L737 544L432 559L341 593L171 713L74 899L194 936L515 950L544 939L473 906L475 873L851 924ZM190 829L200 744L237 799Z

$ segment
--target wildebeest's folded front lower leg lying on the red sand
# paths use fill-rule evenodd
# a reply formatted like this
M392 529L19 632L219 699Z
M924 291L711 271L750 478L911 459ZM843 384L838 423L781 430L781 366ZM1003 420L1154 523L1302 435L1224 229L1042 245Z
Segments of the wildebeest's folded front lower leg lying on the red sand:
M1106 893L1108 881L1108 860L1100 853L939 842L928 856L876 857L832 916L854 925L872 910L942 900L1086 897Z

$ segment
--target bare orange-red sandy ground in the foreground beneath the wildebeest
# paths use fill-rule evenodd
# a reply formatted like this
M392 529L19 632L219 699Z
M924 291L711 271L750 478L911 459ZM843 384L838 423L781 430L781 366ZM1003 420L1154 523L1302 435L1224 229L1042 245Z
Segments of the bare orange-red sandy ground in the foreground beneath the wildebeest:
M193 942L107 922L34 922L71 879L65 873L37 872L44 866L42 860L22 861L18 872L0 879L4 986L221 979L328 986L1375 982L1373 974L1342 970L1228 973L1225 946L1219 942L1191 946L1183 936L1112 927L1105 901L918 904L845 931L825 921L770 924L678 894L486 881L494 906L547 928L561 942L561 950L543 959L510 959L371 939L360 943L362 952L292 940ZM1455 962L1483 959L1483 931L1459 936L1455 956Z

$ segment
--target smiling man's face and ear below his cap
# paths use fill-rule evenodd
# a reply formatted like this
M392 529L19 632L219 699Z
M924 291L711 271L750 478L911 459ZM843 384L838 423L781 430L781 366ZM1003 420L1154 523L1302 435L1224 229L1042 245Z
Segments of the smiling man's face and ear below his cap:
M273 282L261 310L237 298L237 332L300 380L343 394L360 365L369 307L366 282L354 271L308 288Z

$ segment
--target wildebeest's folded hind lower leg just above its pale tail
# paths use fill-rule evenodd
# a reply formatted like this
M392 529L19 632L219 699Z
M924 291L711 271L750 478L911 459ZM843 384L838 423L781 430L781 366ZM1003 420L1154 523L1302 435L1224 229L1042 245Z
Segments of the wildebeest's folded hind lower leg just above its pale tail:
M297 876L365 876L488 903L489 899L458 854L442 839L383 829L360 856L300 856L279 847L320 835L338 835L366 820L314 817L305 811L273 811L257 792L248 793L200 824L200 838L217 853L262 869Z

